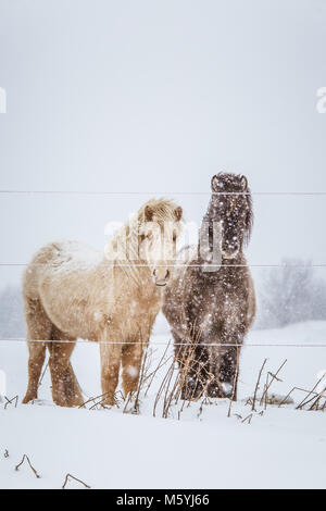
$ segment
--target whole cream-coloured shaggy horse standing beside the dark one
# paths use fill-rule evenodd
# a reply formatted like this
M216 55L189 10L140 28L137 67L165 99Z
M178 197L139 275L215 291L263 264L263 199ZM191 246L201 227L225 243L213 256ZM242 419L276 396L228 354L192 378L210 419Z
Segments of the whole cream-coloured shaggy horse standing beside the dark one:
M65 241L35 254L23 283L29 350L24 403L37 398L46 346L53 401L63 407L83 403L70 362L78 337L100 344L103 404L114 403L121 362L125 396L137 389L181 216L173 201L152 199L120 228L105 253Z

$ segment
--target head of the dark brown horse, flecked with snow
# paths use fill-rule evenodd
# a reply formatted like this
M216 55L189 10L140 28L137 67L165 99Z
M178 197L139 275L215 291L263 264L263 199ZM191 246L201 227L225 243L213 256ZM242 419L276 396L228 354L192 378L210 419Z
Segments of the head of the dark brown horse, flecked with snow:
M253 213L247 177L220 173L212 177L212 198L206 222L221 225L221 251L224 259L234 259L249 241Z

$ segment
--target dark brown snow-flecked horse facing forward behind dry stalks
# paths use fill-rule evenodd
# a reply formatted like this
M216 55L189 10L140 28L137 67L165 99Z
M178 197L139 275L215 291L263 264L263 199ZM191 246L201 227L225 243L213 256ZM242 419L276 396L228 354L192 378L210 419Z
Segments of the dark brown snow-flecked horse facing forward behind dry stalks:
M199 242L198 249L184 251L186 262L172 272L163 312L179 370L186 373L181 397L197 399L205 392L236 400L240 347L255 313L253 282L243 256L252 228L252 201L244 176L220 173L212 178L212 192L203 217L210 250L201 250ZM220 261L212 265L217 259L212 254L216 225Z

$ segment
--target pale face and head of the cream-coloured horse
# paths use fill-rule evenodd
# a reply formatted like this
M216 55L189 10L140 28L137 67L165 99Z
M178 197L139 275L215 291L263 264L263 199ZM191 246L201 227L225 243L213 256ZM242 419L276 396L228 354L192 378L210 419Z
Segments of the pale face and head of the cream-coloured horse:
M149 265L156 286L165 286L170 278L168 263L176 254L181 219L183 209L170 200L152 199L143 208L138 228L139 257Z

